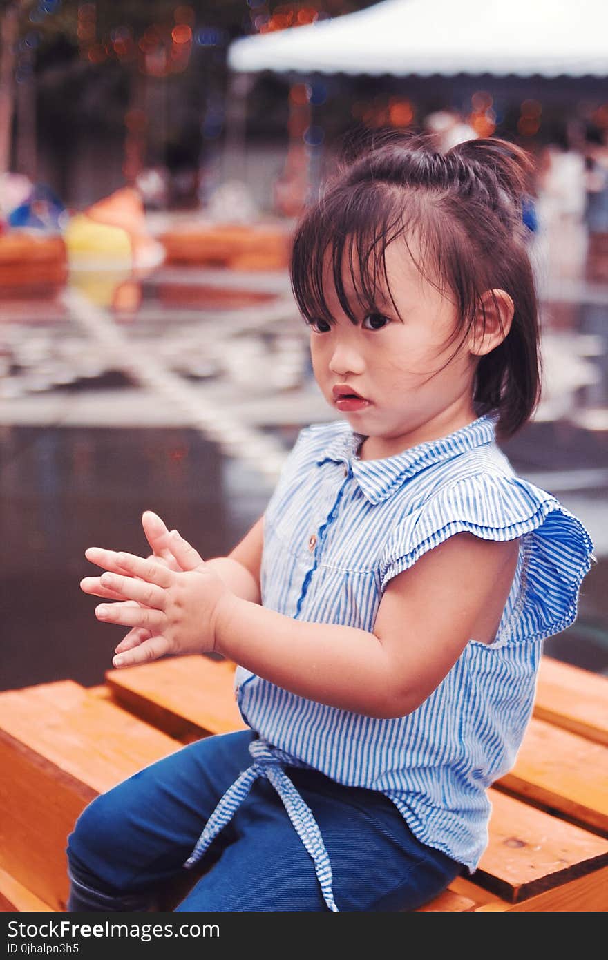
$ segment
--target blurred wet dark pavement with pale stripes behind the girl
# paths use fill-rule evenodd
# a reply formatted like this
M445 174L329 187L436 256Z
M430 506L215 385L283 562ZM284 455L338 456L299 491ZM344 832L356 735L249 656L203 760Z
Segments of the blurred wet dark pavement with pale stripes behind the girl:
M101 683L121 631L78 586L85 547L141 553L152 509L203 556L227 552L299 428L333 418L282 273L160 268L129 310L85 279L0 302L1 689ZM596 544L547 653L608 675L608 287L548 284L543 316L543 402L502 448Z

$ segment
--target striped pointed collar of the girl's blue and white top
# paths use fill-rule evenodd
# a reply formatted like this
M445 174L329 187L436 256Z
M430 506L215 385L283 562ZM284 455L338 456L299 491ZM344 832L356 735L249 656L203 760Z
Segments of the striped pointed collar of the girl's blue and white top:
M353 476L361 491L370 501L377 504L385 500L403 481L415 476L433 464L450 460L460 453L473 450L476 446L493 443L496 439L496 423L499 415L496 411L478 417L473 423L454 430L447 437L429 440L424 444L411 446L393 457L382 460L359 460L356 451L365 439L355 433L349 423L344 421L342 430L336 432L331 443L317 459L317 464L334 461L348 462Z

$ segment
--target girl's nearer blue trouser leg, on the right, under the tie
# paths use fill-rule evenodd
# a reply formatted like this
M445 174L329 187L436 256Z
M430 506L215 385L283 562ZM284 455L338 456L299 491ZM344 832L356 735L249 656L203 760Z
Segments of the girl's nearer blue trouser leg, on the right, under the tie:
M319 825L340 911L415 910L462 871L422 844L376 791L286 768ZM176 912L325 911L310 855L268 780L256 780L232 821L234 840Z

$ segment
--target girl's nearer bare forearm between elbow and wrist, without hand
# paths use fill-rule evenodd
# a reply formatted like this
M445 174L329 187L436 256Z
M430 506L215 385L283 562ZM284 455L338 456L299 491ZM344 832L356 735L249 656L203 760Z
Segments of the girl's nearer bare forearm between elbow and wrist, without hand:
M400 716L381 641L353 627L306 623L229 597L215 650L292 693L367 716Z

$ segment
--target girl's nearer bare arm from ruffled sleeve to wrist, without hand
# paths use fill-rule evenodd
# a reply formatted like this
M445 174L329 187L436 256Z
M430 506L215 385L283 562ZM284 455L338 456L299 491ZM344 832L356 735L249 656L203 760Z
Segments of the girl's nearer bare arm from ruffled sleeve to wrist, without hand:
M217 619L215 649L310 700L403 716L441 683L469 639L496 636L518 551L519 540L450 537L389 582L374 633L229 599Z

